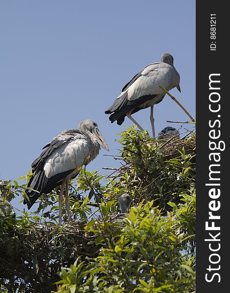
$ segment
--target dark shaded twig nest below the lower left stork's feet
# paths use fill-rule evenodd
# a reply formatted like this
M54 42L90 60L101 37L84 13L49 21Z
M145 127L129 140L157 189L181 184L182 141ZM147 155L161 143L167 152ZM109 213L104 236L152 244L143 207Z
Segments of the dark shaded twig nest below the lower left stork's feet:
M14 225L17 226L17 222ZM30 286L35 289L31 292L55 289L50 284L59 280L57 272L61 267L70 266L79 255L98 255L96 236L85 231L84 226L75 221L64 224L61 229L53 223L30 224L0 233L0 283L19 282L20 288L24 284L25 292L29 292ZM5 280L8 281L5 283Z

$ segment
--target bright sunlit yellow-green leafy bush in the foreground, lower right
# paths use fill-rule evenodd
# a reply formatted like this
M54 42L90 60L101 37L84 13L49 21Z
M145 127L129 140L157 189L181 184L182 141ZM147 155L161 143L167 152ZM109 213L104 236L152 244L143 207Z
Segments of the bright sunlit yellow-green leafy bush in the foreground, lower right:
M189 236L177 211L164 217L153 201L141 203L112 229L107 224L86 226L100 235L97 243L104 247L96 258L80 263L82 271L76 263L62 269L59 293L195 291L194 255L181 252L187 250Z

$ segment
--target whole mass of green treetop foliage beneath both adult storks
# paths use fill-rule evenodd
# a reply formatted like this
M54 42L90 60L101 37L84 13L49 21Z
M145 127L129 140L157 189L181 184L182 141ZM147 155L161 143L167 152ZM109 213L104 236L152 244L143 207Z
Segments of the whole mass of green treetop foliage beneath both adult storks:
M25 196L26 185L1 182L0 290L195 292L195 135L161 143L128 128L119 142L117 172L105 178L82 169L73 180L71 222L63 205L61 229L60 188L43 195L36 212L15 217L7 201ZM125 192L133 207L121 217Z

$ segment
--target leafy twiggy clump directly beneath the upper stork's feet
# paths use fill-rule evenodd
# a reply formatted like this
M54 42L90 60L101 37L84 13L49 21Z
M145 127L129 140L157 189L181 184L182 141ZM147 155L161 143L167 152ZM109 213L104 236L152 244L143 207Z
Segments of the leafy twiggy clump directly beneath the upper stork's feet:
M194 152L186 154L182 148L177 157L165 160L168 156L162 152L161 144L146 132L129 128L121 137L121 153L128 167L121 172L119 186L131 192L135 202L153 199L165 212L170 209L169 201L177 205L180 194L195 180ZM188 139L192 140L194 136Z

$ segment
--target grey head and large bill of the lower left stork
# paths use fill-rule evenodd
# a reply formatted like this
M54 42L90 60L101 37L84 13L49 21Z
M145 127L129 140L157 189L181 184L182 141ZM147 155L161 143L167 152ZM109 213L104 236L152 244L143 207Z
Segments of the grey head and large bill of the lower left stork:
M86 130L90 131L95 136L98 144L102 146L104 149L109 150L109 146L107 145L104 137L102 136L100 130L98 129L96 122L90 119L85 119L79 123L78 129L83 131L86 131Z

